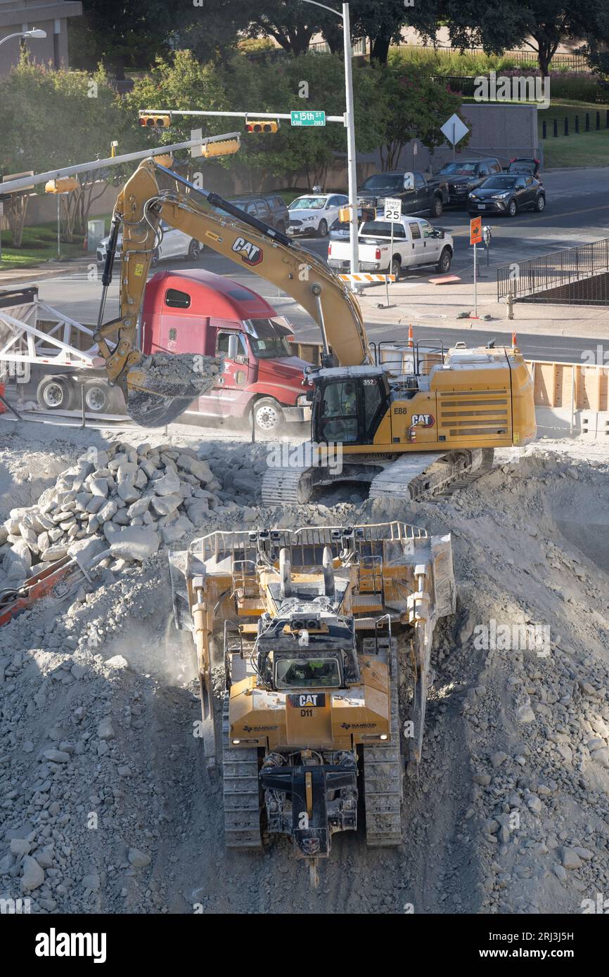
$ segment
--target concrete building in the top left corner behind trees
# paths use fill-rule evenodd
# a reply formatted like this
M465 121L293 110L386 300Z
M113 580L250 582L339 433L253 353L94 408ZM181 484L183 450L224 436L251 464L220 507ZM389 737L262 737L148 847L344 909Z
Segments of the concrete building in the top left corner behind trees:
M24 42L32 59L54 68L66 67L67 18L81 14L82 4L76 0L0 0L0 41L32 27L46 30L45 38ZM21 43L14 37L0 44L0 76L18 63Z

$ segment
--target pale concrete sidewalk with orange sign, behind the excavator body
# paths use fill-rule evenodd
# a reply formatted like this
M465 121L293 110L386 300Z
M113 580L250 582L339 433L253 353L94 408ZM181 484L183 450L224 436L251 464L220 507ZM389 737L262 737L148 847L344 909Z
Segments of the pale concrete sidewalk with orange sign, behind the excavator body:
M466 274L454 284L432 285L429 281L399 281L389 285L392 308L378 308L386 302L385 285L370 286L359 297L367 322L394 325L419 325L489 330L493 325L502 332L537 332L552 336L595 336L609 338L609 308L603 306L551 305L545 302L514 303L514 318L507 319L507 307L497 300L494 269L483 269L490 277L478 280L479 319L459 319L459 313L474 309L473 275ZM430 275L430 277L434 277ZM481 317L490 316L485 320Z

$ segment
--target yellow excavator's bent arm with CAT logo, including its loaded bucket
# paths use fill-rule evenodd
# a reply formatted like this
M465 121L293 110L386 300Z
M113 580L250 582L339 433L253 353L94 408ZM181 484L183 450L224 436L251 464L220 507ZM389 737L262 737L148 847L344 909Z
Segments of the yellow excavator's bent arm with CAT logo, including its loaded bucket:
M159 190L156 170L175 181L177 189ZM194 192L225 214L197 204ZM193 357L189 364L182 355L178 369L177 362L168 364L166 357L157 362L152 358L151 362L138 349L137 322L152 254L162 236L161 221L230 258L240 268L266 278L295 299L320 326L325 350L323 365L349 366L372 361L357 299L325 262L217 193L199 190L147 159L118 194L112 222L110 238L114 245L120 225L123 234L119 317L102 324L103 299L95 333L109 380L121 386L127 412L138 423L166 424L203 392L200 382L197 386L201 358ZM104 294L111 280L112 261L109 247Z

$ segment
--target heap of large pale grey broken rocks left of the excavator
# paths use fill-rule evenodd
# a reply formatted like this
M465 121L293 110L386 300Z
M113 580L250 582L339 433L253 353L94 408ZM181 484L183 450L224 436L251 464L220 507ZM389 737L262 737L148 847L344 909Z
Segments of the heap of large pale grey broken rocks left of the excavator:
M144 560L194 531L221 488L189 447L90 448L37 505L11 510L0 527L2 569L21 581L65 556Z

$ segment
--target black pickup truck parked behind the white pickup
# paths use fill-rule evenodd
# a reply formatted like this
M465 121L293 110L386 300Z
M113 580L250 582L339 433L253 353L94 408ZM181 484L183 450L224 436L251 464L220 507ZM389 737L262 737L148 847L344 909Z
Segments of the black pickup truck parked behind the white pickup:
M449 194L443 180L427 181L422 173L392 170L389 173L373 173L358 191L361 207L375 207L377 217L382 217L386 197L398 197L402 201L403 214L429 213L440 217Z

